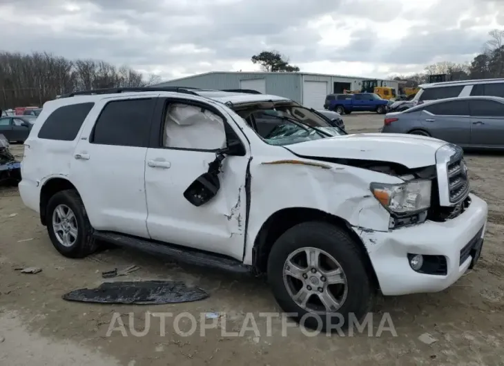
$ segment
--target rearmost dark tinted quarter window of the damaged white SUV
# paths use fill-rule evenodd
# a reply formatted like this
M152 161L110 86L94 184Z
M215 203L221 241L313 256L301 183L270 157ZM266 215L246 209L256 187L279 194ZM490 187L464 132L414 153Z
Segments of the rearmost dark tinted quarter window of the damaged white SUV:
M79 103L57 108L47 117L46 122L43 122L39 139L73 141L94 105L94 103Z

